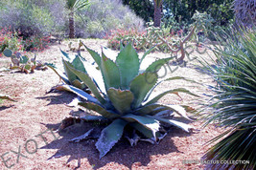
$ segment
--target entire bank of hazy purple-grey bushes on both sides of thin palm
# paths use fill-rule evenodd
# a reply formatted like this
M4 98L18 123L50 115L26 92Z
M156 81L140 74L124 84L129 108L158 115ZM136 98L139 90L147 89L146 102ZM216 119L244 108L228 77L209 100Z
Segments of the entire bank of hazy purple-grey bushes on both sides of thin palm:
M0 6L0 28L12 27L25 38L68 34L65 0L7 0ZM75 18L77 37L101 38L120 28L143 27L143 20L116 0L91 0L89 9L78 11Z

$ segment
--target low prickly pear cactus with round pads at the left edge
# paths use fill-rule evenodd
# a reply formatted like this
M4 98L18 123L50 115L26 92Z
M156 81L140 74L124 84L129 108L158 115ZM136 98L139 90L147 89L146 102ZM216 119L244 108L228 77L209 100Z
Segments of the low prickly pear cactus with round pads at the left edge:
M22 55L21 53L12 53L12 51L9 49L6 49L3 53L5 56L11 57L12 64L10 66L10 69L19 69L25 74L29 74L29 71L31 73L34 73L35 69L47 69L44 64L35 60L36 55L34 58L30 59L27 55Z

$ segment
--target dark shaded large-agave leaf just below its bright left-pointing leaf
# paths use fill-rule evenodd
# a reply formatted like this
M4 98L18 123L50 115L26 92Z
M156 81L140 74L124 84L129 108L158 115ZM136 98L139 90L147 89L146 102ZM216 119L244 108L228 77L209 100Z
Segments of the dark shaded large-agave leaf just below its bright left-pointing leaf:
M100 114L103 117L106 118L116 118L116 117L120 117L120 115L116 114L113 111L108 111L106 110L104 107L102 107L99 104L96 103L92 103L92 102L81 102L79 103L80 106L88 109L88 110L92 110L97 112L98 114Z

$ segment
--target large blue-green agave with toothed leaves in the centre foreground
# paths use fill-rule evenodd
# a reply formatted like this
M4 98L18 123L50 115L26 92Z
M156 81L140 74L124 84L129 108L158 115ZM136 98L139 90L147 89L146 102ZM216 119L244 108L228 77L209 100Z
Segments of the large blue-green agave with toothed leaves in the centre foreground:
M181 92L196 96L184 88L172 89L162 94L152 96L153 89L163 81L185 79L175 76L157 81L157 72L161 66L172 59L158 59L151 63L146 70L139 70L140 64L146 54L139 60L138 54L129 43L122 47L121 52L113 61L102 53L102 56L86 46L85 48L91 54L100 71L91 67L88 72L81 72L74 65L63 60L66 68L73 74L76 74L81 81L91 90L92 95L81 91L71 85L64 87L85 99L85 102L79 102L81 107L90 112L88 116L80 117L86 121L103 121L107 125L101 131L96 147L100 152L100 158L122 138L124 131L133 131L131 137L127 138L131 144L136 144L139 138L146 139L152 143L163 138L165 134L160 131L162 124L175 125L178 128L189 132L192 126L171 119L172 111L181 117L187 117L186 110L179 105L167 105L156 103L158 99L167 94ZM93 78L92 78L93 77ZM163 112L165 115L163 115ZM80 141L83 138L90 138L94 135L94 130L90 130L79 138L73 138L73 141Z

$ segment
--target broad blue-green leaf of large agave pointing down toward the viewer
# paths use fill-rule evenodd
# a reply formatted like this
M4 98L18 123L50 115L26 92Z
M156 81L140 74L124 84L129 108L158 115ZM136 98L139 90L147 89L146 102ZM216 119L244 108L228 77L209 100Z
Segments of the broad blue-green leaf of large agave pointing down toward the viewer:
M122 138L124 128L127 124L128 122L123 119L115 119L111 124L105 127L102 131L101 137L95 144L96 148L100 152L100 159L110 151L120 138Z

